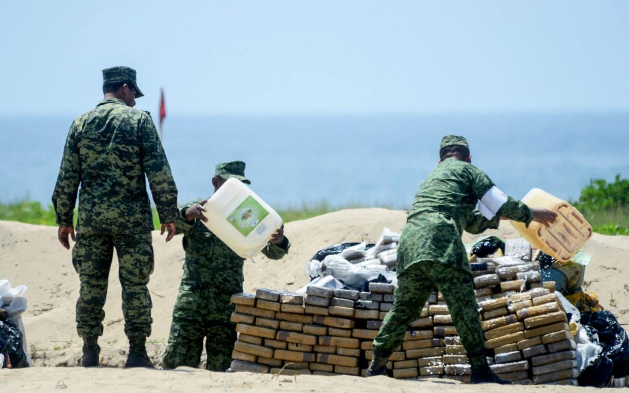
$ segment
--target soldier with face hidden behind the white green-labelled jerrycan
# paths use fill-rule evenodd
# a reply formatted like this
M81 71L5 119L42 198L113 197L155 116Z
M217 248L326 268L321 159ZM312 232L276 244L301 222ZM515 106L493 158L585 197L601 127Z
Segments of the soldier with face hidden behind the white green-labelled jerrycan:
M214 192L230 177L250 184L245 177L244 162L220 163L216 165L212 179ZM184 233L186 262L172 311L168 348L162 359L162 367L166 369L199 367L203 338L208 355L206 368L222 372L230 367L231 350L236 341L235 325L230 321L235 306L230 303L230 297L243 291L245 260L201 222L208 221L203 216L206 201L184 206L177 223L177 230ZM282 226L262 253L268 258L279 259L286 255L290 246Z

